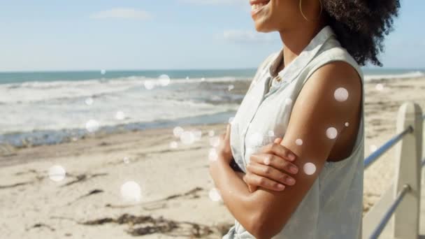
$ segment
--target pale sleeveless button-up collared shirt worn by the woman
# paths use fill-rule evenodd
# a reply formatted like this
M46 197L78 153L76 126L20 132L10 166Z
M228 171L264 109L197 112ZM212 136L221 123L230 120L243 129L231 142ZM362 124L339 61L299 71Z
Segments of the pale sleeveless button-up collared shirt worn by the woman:
M364 84L361 68L347 50L341 47L329 26L319 31L301 54L273 77L275 62L280 57L282 51L275 52L261 64L231 122L233 158L246 173L245 166L250 161L250 154L273 143L277 137L283 138L292 105L310 75L331 61L347 62L359 73L363 91L361 119L354 148L350 156L341 161L325 162L317 180L287 224L273 238L360 238L364 159ZM248 239L254 236L235 219L235 225L223 238Z

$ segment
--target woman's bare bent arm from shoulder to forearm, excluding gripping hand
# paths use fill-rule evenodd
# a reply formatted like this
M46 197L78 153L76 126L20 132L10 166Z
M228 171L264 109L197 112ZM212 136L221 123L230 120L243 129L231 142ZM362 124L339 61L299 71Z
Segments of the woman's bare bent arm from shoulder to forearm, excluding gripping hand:
M224 161L211 168L226 207L247 231L262 239L282 230L322 171L345 122L356 117L360 102L359 75L344 62L326 64L305 82L281 143L296 154L294 164L301 172L294 175L296 184L284 191L259 188L250 194L245 182ZM298 138L302 145L296 145ZM310 172L303 170L305 165Z

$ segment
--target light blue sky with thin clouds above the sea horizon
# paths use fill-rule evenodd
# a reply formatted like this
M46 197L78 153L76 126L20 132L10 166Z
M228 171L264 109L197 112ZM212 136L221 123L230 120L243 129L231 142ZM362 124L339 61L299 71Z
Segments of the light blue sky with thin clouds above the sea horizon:
M425 1L401 5L380 59L425 68ZM0 0L0 9L0 71L257 68L282 48L277 32L255 31L248 0Z

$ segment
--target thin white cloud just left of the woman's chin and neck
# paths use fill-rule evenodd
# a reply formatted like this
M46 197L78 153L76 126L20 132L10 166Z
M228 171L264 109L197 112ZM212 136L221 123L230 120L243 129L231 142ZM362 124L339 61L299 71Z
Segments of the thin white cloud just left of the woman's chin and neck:
M226 30L223 32L222 38L226 41L236 43L271 43L277 40L277 38L271 34L245 30Z

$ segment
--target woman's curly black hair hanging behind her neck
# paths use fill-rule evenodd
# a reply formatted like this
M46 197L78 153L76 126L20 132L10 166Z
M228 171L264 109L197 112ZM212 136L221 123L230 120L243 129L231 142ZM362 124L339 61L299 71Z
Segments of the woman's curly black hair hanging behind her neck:
M400 1L322 0L322 4L326 23L357 63L382 66L377 55L384 51L384 36L393 30Z

